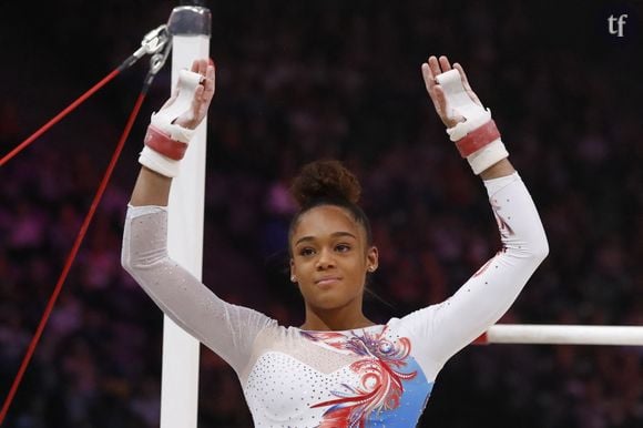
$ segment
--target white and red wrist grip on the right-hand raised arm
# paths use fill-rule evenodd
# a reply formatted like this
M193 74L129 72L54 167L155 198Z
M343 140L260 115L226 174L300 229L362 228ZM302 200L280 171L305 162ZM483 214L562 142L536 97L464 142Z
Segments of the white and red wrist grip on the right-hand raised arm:
M471 100L456 69L438 74L436 81L447 98L449 115L461 115L465 122L447 129L449 139L456 143L462 157L469 161L474 174L480 174L494 163L509 156L500 132L491 120L491 111Z

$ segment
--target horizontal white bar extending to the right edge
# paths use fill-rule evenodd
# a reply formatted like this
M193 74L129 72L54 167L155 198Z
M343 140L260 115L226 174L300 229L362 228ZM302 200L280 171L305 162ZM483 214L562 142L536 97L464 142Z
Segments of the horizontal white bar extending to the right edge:
M489 344L643 346L643 326L497 324L487 330Z

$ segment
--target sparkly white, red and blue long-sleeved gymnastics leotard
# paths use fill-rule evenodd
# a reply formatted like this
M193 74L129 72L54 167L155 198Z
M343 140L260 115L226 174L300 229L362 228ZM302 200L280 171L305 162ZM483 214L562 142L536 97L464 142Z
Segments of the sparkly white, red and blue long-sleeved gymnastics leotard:
M386 325L306 332L220 299L169 258L164 207L130 207L123 266L235 369L256 427L411 427L445 363L507 312L548 252L518 174L484 185L502 249L443 303Z

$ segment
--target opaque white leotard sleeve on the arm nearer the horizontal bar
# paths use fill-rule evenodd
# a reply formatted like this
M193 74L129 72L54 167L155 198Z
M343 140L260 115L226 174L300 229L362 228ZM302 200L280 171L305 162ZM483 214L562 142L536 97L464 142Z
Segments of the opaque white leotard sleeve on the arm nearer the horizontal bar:
M547 257L549 246L533 201L518 173L484 182L502 249L458 292L400 319L428 371L486 332L509 309Z

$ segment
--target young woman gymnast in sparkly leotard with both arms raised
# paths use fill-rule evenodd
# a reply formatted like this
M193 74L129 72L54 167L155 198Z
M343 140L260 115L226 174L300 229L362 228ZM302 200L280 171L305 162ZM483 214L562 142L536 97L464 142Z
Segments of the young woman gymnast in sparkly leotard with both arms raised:
M152 119L123 266L165 314L235 369L255 426L416 426L445 363L507 312L548 253L533 202L462 68L431 57L421 71L451 140L484 182L502 249L446 302L375 324L361 309L378 252L357 205L359 183L338 162L314 162L292 187L300 204L289 231L290 279L306 308L299 327L223 302L167 257L171 176L214 94L214 67L195 61L192 71L202 77L192 105L165 114L172 99Z

